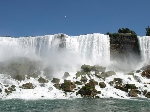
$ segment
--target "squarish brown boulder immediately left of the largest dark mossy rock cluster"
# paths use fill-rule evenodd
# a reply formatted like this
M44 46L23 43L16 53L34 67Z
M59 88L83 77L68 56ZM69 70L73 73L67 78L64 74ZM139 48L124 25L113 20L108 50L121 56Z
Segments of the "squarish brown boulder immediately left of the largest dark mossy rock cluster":
M76 85L71 80L64 80L64 83L61 84L61 89L65 92L72 92L74 88L76 88Z

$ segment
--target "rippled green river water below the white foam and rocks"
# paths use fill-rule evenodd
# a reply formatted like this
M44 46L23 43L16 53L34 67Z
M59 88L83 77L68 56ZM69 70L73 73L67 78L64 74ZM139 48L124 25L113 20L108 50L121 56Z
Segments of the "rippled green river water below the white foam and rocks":
M149 112L147 99L0 100L0 112Z

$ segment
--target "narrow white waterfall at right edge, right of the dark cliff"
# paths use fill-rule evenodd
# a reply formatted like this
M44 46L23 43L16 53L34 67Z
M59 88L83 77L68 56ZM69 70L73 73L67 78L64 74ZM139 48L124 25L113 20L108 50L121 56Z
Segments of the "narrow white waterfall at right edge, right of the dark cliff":
M141 58L143 61L150 59L150 36L138 36Z

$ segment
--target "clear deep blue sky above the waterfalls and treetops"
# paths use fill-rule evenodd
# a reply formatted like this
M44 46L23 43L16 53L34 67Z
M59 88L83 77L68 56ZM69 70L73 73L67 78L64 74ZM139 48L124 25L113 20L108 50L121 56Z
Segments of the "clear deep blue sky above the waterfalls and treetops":
M0 0L0 36L115 33L150 26L150 0Z

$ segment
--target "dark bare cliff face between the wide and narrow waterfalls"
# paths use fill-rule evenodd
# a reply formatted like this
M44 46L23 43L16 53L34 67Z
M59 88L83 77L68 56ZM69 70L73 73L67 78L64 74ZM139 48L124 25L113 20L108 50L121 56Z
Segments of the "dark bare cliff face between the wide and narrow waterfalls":
M111 59L140 59L140 47L136 35L117 34L110 37Z

